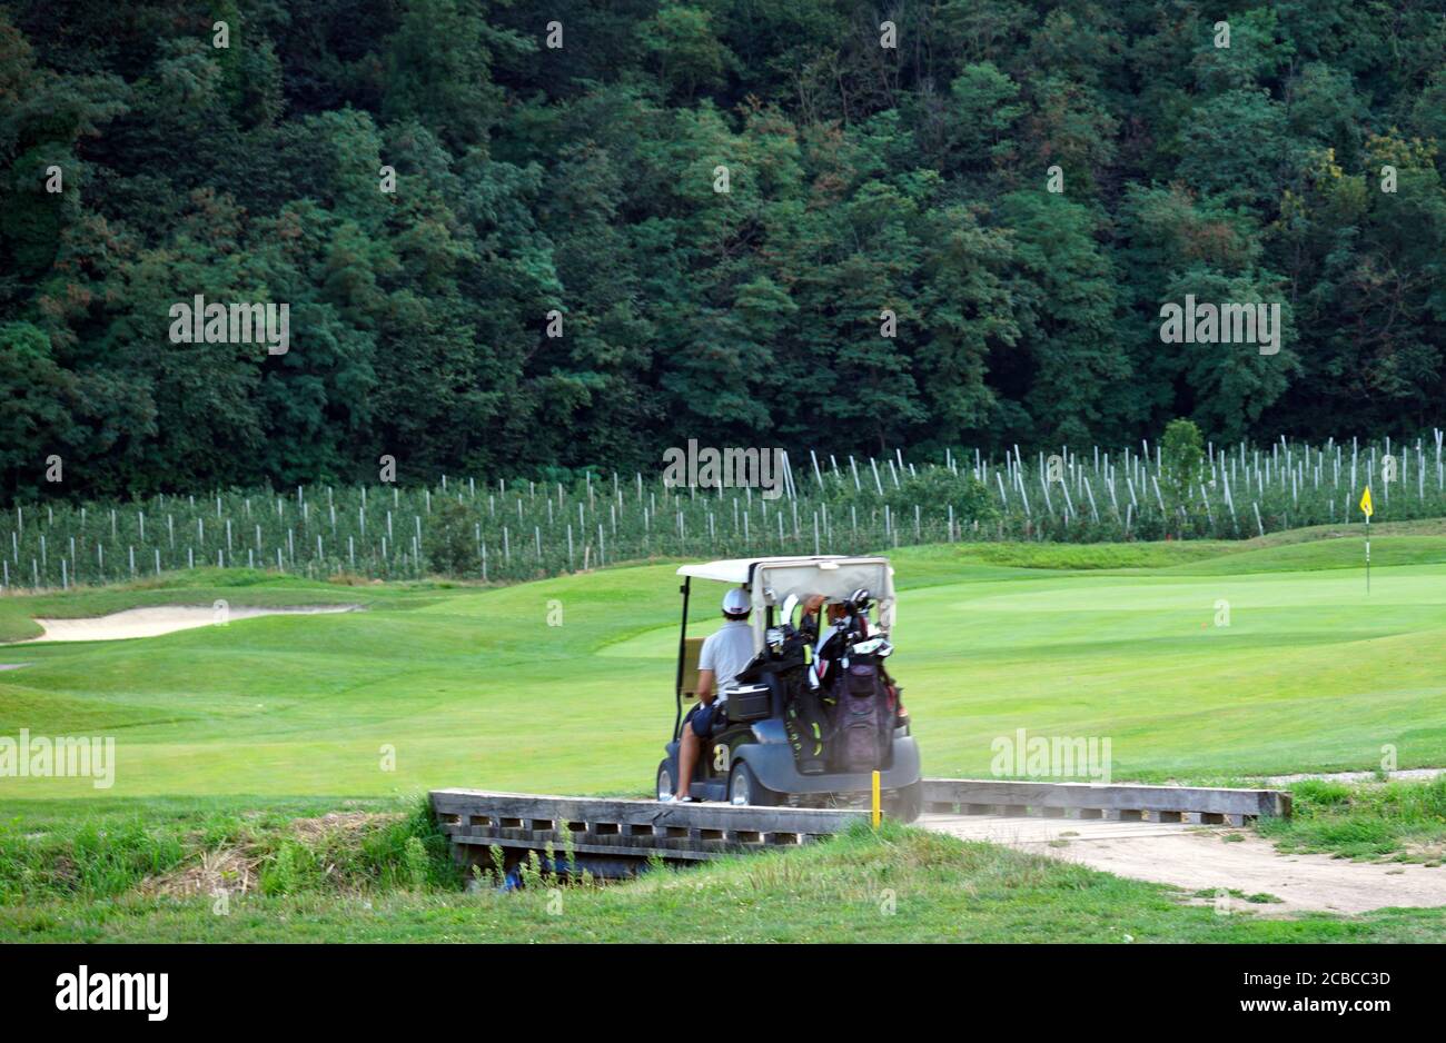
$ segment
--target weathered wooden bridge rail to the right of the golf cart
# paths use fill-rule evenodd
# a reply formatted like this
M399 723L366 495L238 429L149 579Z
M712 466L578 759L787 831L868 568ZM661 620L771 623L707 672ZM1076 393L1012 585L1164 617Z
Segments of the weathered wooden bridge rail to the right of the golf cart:
M1011 808L1082 808L1102 812L1194 812L1236 816L1290 816L1283 790L1196 786L1115 786L1038 783L999 779L925 779L925 805L1005 805Z

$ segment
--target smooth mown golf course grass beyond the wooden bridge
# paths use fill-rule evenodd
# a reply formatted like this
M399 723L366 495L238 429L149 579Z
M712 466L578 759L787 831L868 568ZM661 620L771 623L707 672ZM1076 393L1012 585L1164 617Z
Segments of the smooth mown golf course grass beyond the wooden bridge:
M1374 769L1385 745L1400 767L1446 764L1446 537L1382 536L1372 549L1369 598L1349 568L1358 540L895 552L892 669L925 770L988 774L991 743L1019 728L1109 738L1116 779ZM1024 568L1037 561L1086 568ZM701 588L694 633L723 589ZM6 598L4 611L213 594L192 581ZM0 805L642 792L672 725L671 565L496 589L262 581L224 597L366 611L0 646L0 662L25 665L0 673L0 735L116 738L111 789L0 777Z

